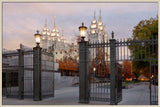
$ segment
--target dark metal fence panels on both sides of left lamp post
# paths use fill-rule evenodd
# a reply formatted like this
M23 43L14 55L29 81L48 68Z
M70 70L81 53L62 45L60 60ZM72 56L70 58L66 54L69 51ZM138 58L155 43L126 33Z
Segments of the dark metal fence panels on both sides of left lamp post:
M36 79L33 59L36 55L33 50L24 51L22 49L19 49L18 52L3 54L3 95L19 99L34 98ZM40 95L43 99L54 96L54 57L52 53L44 50L40 56Z

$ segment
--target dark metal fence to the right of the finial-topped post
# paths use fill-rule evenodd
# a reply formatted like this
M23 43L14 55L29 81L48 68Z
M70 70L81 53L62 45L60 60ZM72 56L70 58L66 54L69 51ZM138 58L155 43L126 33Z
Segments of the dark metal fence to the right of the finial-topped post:
M150 104L158 104L158 38L116 40L116 61L132 61L133 68L139 68L149 82ZM136 71L135 69L133 69ZM131 71L132 72L132 71ZM134 75L134 74L132 74Z

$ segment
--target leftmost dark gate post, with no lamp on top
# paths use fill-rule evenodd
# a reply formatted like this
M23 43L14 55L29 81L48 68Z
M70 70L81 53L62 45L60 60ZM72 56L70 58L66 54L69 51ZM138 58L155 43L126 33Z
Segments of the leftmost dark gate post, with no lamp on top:
M24 52L22 49L18 49L18 98L24 99Z

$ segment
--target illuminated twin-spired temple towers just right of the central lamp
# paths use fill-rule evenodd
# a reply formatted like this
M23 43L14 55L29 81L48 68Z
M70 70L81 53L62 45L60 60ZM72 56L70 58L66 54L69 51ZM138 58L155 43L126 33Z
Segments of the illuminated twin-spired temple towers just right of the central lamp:
M102 21L101 10L99 12L99 19L96 19L96 13L94 11L94 17L91 21L91 25L88 30L88 41L89 43L101 43L103 41L109 41L109 36L107 34L106 27ZM105 61L109 61L110 48L93 48L90 49L91 59L96 57L103 57ZM103 55L103 56L102 56Z

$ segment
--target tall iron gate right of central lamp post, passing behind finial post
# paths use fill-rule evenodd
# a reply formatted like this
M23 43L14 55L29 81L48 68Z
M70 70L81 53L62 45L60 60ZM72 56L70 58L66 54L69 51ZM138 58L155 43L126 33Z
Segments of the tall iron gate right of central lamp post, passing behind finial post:
M110 102L111 99L111 60L110 42L92 42L88 47L90 100ZM113 58L114 59L114 58ZM122 100L122 66L115 64L116 103ZM113 90L113 89L112 89Z

